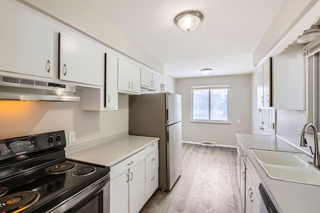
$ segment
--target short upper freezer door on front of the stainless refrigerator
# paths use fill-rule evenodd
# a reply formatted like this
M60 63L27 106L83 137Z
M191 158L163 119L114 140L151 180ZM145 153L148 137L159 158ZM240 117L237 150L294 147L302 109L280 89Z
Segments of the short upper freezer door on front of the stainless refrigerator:
M181 121L181 95L165 93L166 125Z

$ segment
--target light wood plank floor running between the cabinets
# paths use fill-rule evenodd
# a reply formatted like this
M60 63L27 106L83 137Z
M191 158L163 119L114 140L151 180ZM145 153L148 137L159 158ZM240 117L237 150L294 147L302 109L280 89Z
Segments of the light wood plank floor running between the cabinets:
M243 213L236 149L182 144L182 175L155 191L140 213Z

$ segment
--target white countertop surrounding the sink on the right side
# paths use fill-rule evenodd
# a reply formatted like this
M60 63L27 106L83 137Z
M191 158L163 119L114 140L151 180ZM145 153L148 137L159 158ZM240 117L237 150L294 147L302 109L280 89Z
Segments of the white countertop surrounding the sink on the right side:
M318 205L320 186L271 179L249 151L249 149L265 149L302 153L301 150L275 136L236 134L236 137L279 213L320 212Z

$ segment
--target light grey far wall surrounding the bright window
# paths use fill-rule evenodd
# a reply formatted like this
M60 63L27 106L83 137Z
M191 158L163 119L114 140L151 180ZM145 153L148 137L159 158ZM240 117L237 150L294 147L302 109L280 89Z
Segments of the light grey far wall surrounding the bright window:
M230 124L190 122L190 88L201 85L230 84ZM210 141L236 145L235 133L251 132L251 75L227 75L176 79L175 92L181 94L182 140ZM240 119L240 124L236 120Z

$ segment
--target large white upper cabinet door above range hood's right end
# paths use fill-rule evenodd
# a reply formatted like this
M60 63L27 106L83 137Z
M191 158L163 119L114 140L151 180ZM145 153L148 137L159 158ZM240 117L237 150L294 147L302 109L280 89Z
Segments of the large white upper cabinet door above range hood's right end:
M97 44L71 31L61 31L59 36L59 78L101 86L103 50Z

